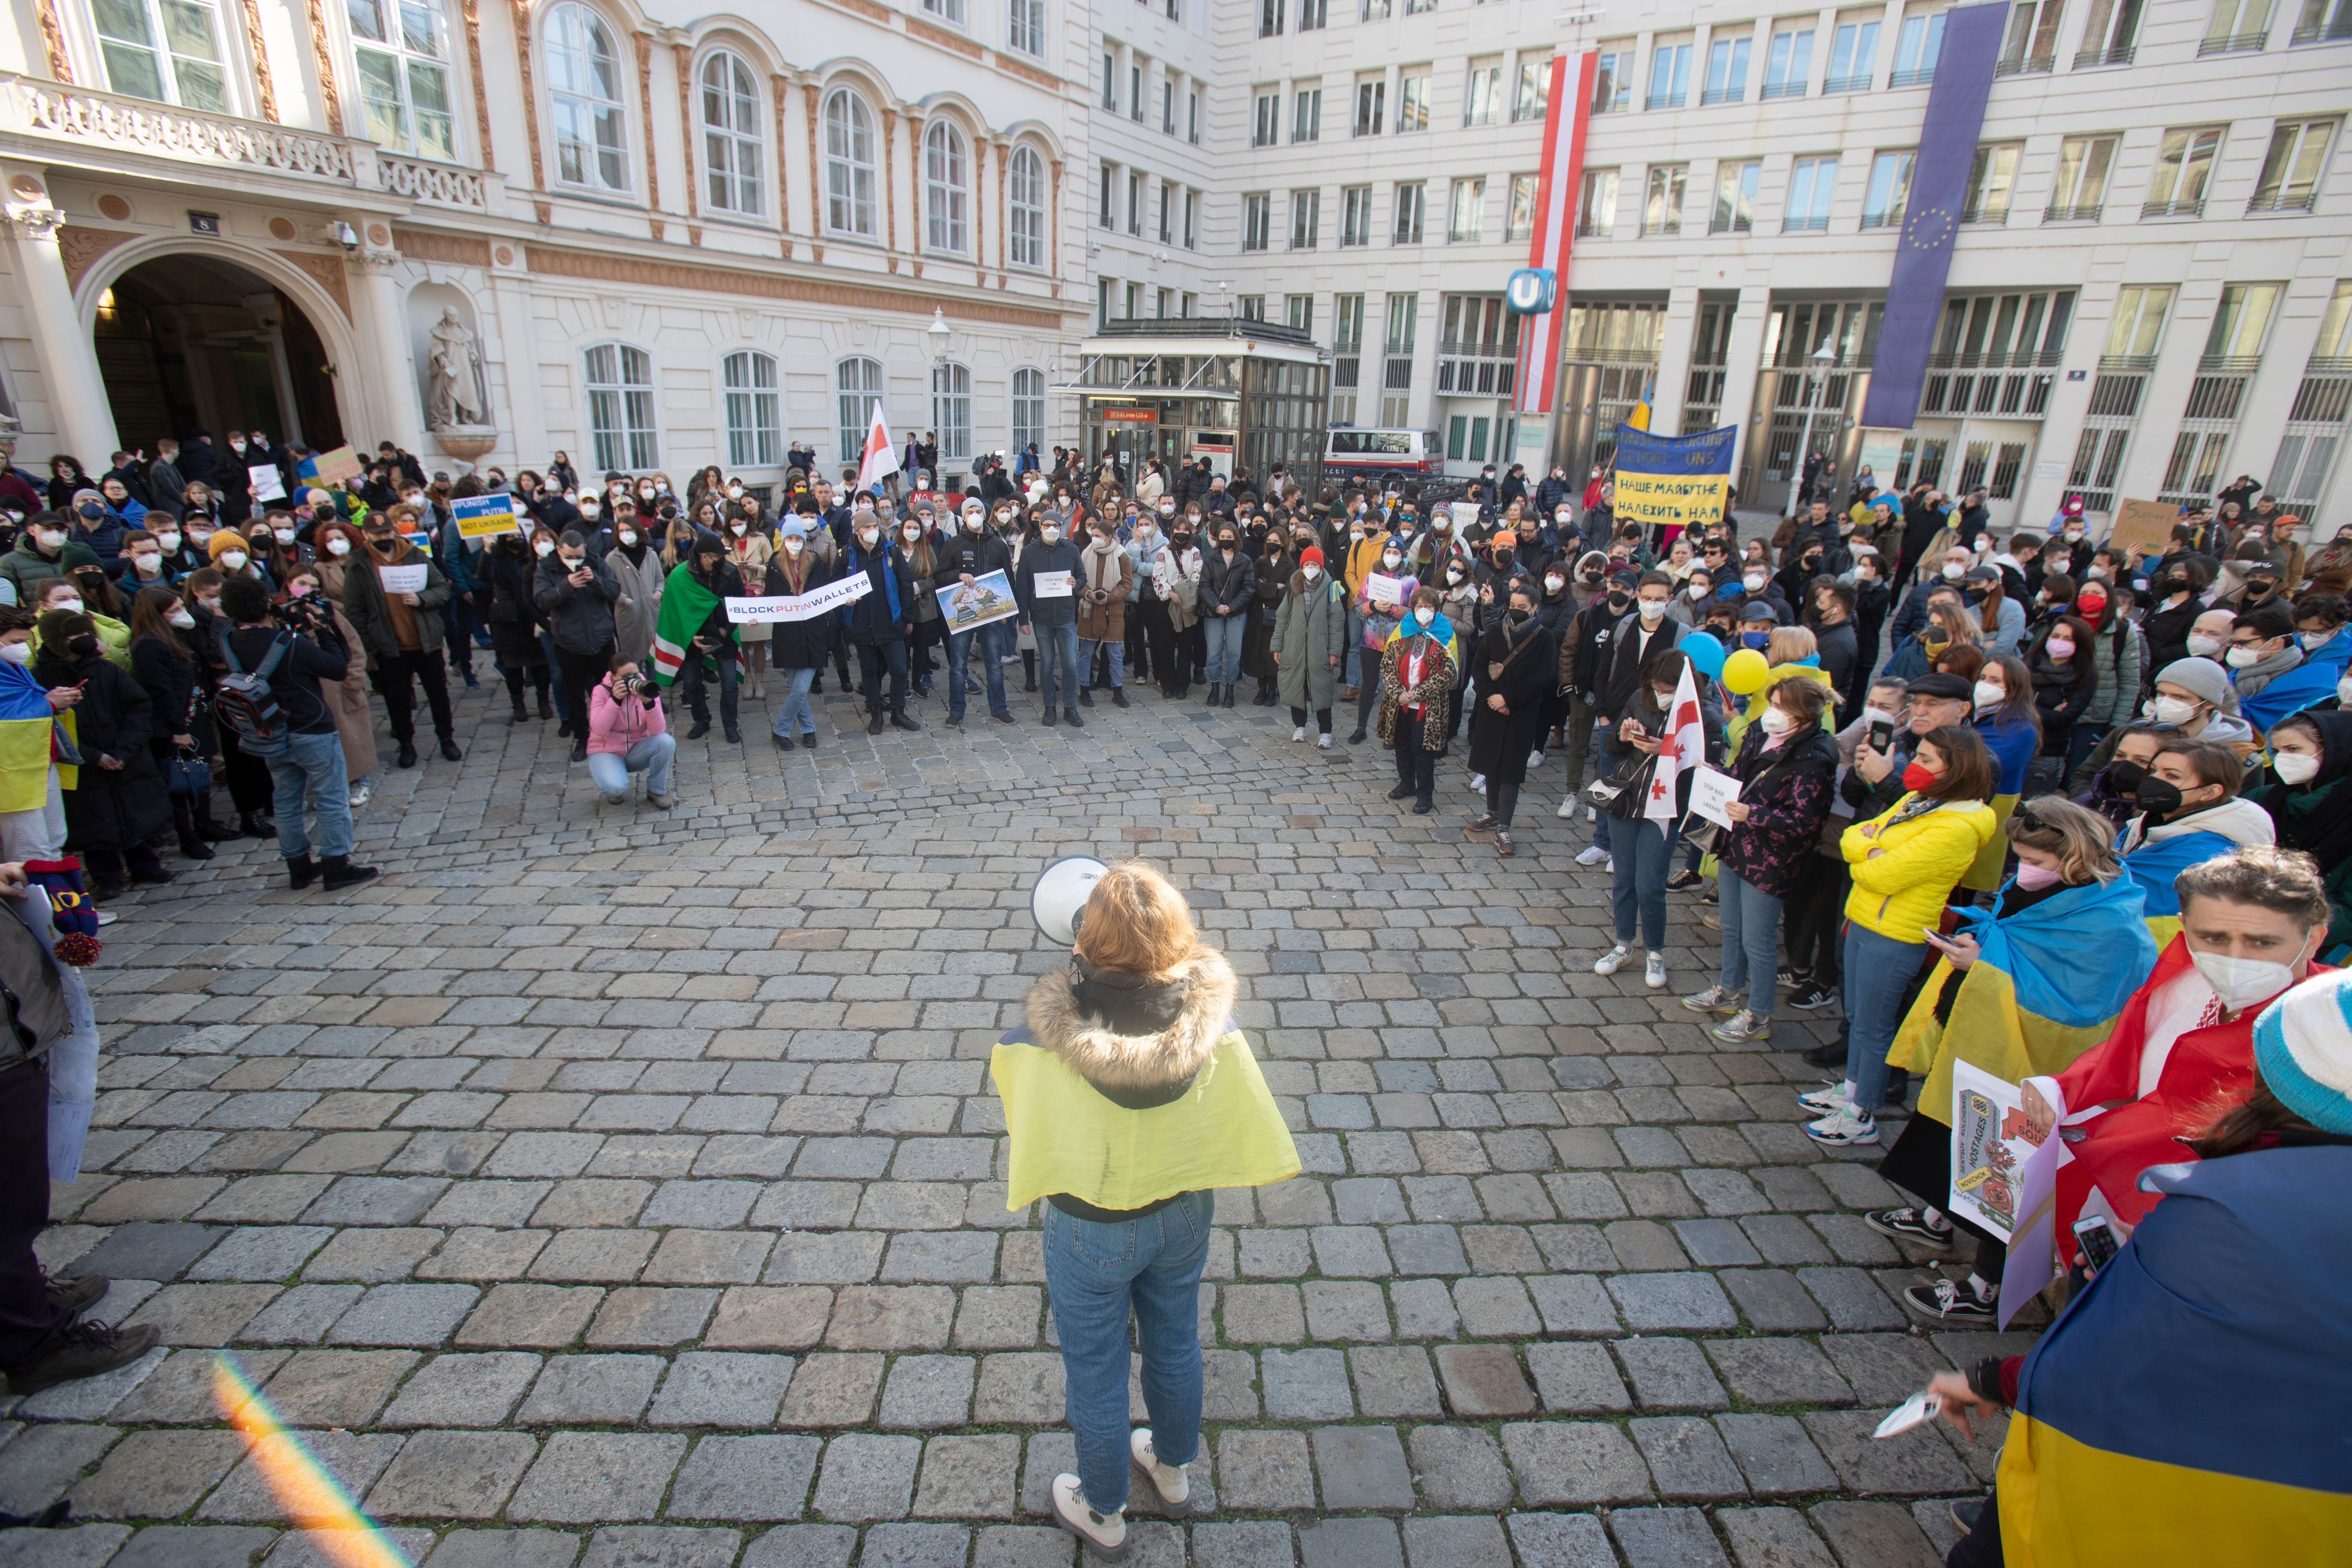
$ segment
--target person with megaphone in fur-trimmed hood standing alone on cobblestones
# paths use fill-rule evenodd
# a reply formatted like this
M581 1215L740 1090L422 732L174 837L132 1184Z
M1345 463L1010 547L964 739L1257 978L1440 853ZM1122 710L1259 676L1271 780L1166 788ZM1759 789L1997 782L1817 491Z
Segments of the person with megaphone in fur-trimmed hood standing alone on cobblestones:
M1298 1173L1298 1152L1232 1023L1240 983L1141 860L1056 860L1030 903L1070 966L1028 994L990 1074L1011 1143L1007 1208L1044 1199L1044 1279L1061 1335L1077 1474L1054 1516L1127 1556L1129 1460L1181 1514L1200 1453L1200 1272L1216 1187ZM1127 1429L1127 1319L1150 1427Z

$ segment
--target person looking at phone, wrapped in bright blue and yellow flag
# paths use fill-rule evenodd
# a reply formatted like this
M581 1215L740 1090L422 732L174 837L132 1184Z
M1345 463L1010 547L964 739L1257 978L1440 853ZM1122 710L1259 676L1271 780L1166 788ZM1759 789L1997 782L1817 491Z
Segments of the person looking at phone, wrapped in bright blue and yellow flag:
M2002 1237L1940 1211L1952 1180L1952 1063L2004 1084L2060 1072L2107 1039L2157 964L2145 893L2114 858L2107 818L2042 795L2002 832L2018 851L2018 875L1992 910L1962 910L1962 931L1929 938L1940 957L1886 1053L1924 1084L1919 1114L1886 1150L1879 1175L1924 1201L1863 1215L1879 1234L1929 1248L1950 1248L1955 1227L1976 1237L1966 1281L1905 1291L1905 1305L1931 1324L1994 1324L2009 1255Z

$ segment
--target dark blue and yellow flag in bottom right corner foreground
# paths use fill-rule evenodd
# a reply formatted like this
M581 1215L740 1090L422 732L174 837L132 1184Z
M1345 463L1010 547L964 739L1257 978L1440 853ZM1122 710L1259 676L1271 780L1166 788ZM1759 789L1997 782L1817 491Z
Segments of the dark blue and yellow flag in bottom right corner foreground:
M2352 1147L2154 1166L2131 1244L2018 1378L2009 1568L2352 1556Z

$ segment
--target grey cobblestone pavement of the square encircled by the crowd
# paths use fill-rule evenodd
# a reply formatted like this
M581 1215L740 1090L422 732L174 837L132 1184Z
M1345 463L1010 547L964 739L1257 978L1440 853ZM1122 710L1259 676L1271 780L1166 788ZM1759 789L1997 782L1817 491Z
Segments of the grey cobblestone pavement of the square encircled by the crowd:
M0 1509L94 1521L0 1563L322 1561L221 1354L433 1568L1073 1563L985 1058L1056 961L1030 875L1103 846L1188 889L1305 1161L1218 1194L1195 1514L1138 1481L1131 1561L1940 1561L1999 1422L1870 1429L2027 1335L1896 1305L1931 1262L1792 1103L1835 1016L1712 1044L1689 893L1670 990L1595 978L1557 757L1498 860L1458 759L1416 818L1385 752L1284 710L1138 691L1040 729L1014 677L1018 726L931 701L875 741L830 691L814 757L746 701L748 745L680 745L670 816L466 693L468 759L360 813L381 882L289 893L254 844L127 900L89 1175L40 1251L165 1345L0 1401Z

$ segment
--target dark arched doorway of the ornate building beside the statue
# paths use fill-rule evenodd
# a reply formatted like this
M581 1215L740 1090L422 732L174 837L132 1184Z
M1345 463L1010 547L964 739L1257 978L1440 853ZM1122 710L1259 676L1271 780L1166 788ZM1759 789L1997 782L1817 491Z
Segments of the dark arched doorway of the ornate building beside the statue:
M285 289L235 261L136 263L99 296L92 339L125 447L155 451L158 437L188 430L343 444L318 327Z

